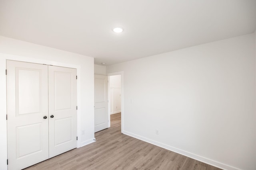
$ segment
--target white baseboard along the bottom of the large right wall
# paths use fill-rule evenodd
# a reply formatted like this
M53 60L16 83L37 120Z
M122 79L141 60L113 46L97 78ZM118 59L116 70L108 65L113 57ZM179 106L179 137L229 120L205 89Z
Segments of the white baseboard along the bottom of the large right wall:
M240 170L239 168L235 168L235 167L233 167L233 166L226 165L226 164L217 162L217 161L215 161L215 160L211 160L211 159L208 159L208 158L204 158L204 157L202 157L202 156L199 156L199 155L196 155L196 154L193 154L193 153L190 153L190 152L186 152L185 150L181 150L181 149L178 149L178 148L175 148L175 147L172 147L172 146L163 144L163 143L159 143L159 142L157 142L157 141L153 141L153 140L151 140L151 139L142 137L142 136L140 136L140 135L136 135L136 134L134 134L134 133L130 133L130 132L127 132L127 131L123 131L123 133L124 133L125 135L134 137L134 138L139 139L139 140L141 140L141 141L144 141L144 142L147 142L147 143L151 143L151 144L153 144L153 145L156 145L156 146L158 146L158 147L161 147L161 148L164 148L164 149L167 149L167 150L176 152L176 153L178 153L178 154L182 154L182 155L184 155L184 156L187 156L187 157L189 157L189 158L198 160L198 161L200 161L200 162L204 162L204 163L206 163L206 164L215 166L215 167L217 167L217 168L221 168L221 169L224 169L224 170Z

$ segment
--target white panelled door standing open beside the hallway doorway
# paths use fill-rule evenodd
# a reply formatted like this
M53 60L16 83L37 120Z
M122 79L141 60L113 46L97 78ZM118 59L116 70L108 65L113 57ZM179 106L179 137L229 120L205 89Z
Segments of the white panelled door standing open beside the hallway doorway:
M94 74L94 132L108 128L108 76Z

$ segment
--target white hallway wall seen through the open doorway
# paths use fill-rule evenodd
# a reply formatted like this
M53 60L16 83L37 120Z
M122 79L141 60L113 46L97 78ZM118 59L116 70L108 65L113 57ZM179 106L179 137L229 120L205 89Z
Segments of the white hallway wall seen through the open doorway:
M110 114L121 112L121 75L109 77Z

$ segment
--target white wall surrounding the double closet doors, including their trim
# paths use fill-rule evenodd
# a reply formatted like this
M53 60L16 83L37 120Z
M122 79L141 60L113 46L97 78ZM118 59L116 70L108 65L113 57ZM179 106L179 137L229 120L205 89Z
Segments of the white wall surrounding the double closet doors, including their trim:
M6 59L77 69L78 147L94 140L94 59L0 36L0 169L7 170ZM85 135L81 135L81 131Z

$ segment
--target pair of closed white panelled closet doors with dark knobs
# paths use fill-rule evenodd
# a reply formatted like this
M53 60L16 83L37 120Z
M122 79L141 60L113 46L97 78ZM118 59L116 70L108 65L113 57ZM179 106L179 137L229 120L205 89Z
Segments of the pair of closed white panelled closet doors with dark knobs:
M6 68L8 170L76 148L76 69L18 61Z

